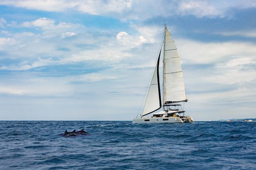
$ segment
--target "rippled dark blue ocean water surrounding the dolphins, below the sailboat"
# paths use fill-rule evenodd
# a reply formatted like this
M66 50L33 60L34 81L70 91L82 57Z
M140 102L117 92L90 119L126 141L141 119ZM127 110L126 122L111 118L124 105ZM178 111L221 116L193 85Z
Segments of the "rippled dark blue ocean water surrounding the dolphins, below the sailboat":
M82 128L91 135L58 135ZM255 121L0 121L0 130L0 169L256 169Z

